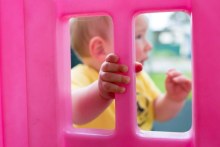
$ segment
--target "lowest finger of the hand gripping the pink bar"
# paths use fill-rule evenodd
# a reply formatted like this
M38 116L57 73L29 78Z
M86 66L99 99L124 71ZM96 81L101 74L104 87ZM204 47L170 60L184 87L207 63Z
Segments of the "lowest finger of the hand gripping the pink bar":
M123 93L125 92L124 87L120 87L116 84L110 83L110 82L101 82L101 89L103 92L106 93Z

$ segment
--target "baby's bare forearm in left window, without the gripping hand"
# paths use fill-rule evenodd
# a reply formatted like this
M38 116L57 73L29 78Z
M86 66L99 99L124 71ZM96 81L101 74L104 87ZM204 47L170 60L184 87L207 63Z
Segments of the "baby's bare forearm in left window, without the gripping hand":
M87 87L72 91L73 123L82 125L105 110L112 99L104 99L99 95L98 81Z

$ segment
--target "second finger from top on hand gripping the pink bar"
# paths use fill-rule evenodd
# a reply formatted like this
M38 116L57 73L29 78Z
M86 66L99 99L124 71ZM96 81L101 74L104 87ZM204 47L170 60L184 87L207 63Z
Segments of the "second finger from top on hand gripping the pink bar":
M127 72L128 67L122 64L104 62L101 66L101 70L104 72Z

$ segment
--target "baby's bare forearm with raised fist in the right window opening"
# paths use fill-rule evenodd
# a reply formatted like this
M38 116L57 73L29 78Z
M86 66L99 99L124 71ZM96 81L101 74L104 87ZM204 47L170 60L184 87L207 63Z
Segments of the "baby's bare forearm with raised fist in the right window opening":
M191 81L180 72L172 69L167 72L165 81L166 93L155 100L155 119L166 121L182 109L189 92Z

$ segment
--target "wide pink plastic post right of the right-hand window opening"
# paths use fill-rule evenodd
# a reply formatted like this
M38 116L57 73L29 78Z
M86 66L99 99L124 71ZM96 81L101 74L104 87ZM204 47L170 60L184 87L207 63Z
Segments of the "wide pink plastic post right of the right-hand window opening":
M193 134L198 147L220 146L220 1L193 0Z

